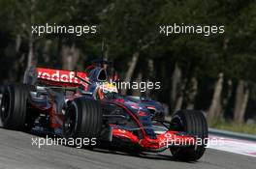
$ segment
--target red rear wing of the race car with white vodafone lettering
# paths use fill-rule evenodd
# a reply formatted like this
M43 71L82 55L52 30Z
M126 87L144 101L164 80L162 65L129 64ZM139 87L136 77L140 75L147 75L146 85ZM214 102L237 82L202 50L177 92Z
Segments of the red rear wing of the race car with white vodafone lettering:
M64 87L78 87L82 85L84 89L88 87L88 84L84 82L84 80L89 81L87 74L82 71L37 68L37 74L38 80L48 85Z

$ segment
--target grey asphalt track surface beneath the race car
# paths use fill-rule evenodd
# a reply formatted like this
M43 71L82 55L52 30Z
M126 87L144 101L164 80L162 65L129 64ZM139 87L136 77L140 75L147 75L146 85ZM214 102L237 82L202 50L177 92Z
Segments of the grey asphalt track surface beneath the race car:
M127 155L96 149L94 151L65 146L32 146L30 133L0 128L0 169L37 168L174 168L174 169L255 169L255 157L208 149L198 162L176 161L170 152L151 155Z

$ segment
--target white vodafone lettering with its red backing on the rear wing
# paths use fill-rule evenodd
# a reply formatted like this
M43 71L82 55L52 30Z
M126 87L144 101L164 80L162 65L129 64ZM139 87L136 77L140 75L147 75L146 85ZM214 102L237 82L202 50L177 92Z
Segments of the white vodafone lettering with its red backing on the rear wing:
M80 80L75 77L74 71L69 70L49 70L49 69L37 69L38 78L66 83L80 83ZM81 78L86 78L84 72L79 72L78 75Z

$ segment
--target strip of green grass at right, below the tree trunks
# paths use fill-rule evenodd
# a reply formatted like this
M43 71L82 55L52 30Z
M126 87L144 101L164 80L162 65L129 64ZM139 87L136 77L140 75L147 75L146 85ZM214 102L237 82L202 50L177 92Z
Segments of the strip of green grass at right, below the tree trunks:
M241 132L241 133L247 133L247 134L256 134L256 124L236 124L234 122L216 122L212 125L210 125L212 128L217 129L223 129L228 131L234 131L234 132Z

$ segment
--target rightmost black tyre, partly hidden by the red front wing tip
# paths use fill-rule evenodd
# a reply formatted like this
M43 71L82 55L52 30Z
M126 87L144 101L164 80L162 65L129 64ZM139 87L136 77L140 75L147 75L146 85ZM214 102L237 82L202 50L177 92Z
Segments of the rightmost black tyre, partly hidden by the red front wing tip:
M178 160L196 161L204 155L206 151L208 137L208 123L201 111L180 110L177 111L171 121L171 129L184 131L189 135L194 135L201 139L203 144L196 147L172 148L171 153Z

